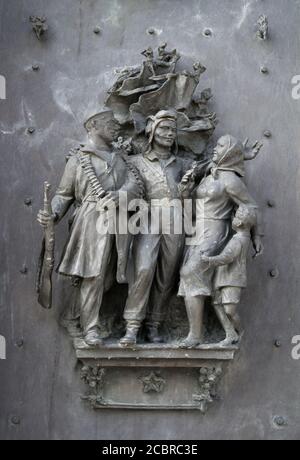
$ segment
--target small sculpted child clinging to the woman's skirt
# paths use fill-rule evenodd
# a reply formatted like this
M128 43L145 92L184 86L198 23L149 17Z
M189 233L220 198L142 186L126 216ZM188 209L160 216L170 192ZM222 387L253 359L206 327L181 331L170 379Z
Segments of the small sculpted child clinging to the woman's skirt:
M226 338L223 346L235 344L241 333L237 312L242 289L247 287L247 253L251 244L251 229L256 224L254 208L241 205L233 218L232 228L236 232L220 255L202 256L210 266L217 267L214 278L214 308L222 324Z

